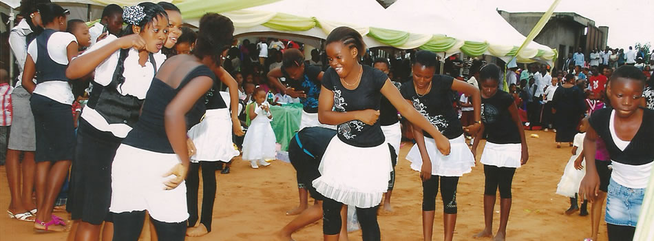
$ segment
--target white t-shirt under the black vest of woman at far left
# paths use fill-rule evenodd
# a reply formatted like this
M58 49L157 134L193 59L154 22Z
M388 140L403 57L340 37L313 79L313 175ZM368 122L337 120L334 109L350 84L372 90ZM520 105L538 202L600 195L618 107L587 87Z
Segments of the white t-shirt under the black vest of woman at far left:
M73 34L68 32L55 32L50 35L50 39L48 39L47 46L45 47L48 48L50 59L60 65L68 65L68 53L66 48L72 42L77 43L77 39ZM36 47L36 40L32 41L28 46L28 54L32 56L34 63L39 59L38 49L39 48ZM72 105L73 101L75 101L72 88L68 84L68 81L65 80L39 83L36 85L36 88L34 88L33 93L51 98L53 101L65 105Z

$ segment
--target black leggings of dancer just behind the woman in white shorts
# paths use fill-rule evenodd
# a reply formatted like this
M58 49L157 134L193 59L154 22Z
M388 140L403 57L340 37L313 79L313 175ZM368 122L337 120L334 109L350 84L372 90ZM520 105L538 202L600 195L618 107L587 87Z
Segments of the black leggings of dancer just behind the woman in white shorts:
M213 201L215 200L215 162L200 161L191 163L189 175L186 180L187 207L189 209L189 227L196 226L198 222L198 187L200 176L198 174L202 167L202 216L200 223L204 224L207 231L211 232L211 220L213 220Z

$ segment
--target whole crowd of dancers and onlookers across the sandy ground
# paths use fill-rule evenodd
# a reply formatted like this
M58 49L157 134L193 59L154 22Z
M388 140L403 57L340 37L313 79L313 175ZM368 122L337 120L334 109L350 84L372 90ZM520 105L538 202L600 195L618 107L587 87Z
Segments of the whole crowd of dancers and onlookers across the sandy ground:
M377 212L392 210L405 139L414 145L402 158L423 187L423 238L432 240L439 188L443 238L454 238L458 181L479 159L484 228L474 237L505 240L511 183L529 160L525 129L552 130L557 148L573 146L557 193L571 200L567 214L584 200L585 216L593 202L587 240L598 240L604 200L609 240L635 232L654 160L654 59L631 47L589 58L580 49L560 71L520 70L425 50L373 58L359 32L339 27L306 59L308 46L287 39L239 43L220 14L204 14L198 31L182 27L167 2L110 4L90 27L68 14L48 0L22 1L10 34L13 86L0 70L7 212L36 232L138 240L146 219L153 240L211 232L216 169L229 174L238 156L253 169L271 165L271 106L292 102L302 105L288 147L299 207L271 239L292 240L322 219L324 240L347 240L350 206L363 240L381 240ZM64 205L72 222L52 213Z

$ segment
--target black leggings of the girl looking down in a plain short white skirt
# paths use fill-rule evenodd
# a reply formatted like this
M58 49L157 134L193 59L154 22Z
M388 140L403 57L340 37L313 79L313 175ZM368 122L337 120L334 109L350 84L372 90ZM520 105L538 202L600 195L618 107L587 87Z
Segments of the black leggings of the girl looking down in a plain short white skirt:
M486 177L484 195L495 196L499 188L500 198L511 198L511 183L514 174L516 174L514 167L484 165L484 176Z

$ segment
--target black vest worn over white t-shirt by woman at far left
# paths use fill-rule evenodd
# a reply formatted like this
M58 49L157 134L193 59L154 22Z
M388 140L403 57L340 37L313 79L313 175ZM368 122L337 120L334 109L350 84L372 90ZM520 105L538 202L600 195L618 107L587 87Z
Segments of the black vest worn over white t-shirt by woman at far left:
M66 78L66 67L68 65L56 63L50 58L50 54L48 53L48 40L55 32L57 31L45 29L43 33L34 39L36 41L36 51L39 53L34 60L36 62L36 70L38 70L38 73L36 73L37 84L45 81L68 81L68 78Z

